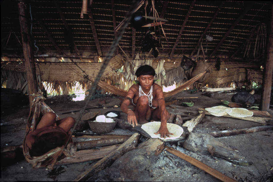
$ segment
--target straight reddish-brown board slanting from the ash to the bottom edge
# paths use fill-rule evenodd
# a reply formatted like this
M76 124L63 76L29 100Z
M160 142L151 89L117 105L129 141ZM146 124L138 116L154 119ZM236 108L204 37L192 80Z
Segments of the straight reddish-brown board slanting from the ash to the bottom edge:
M185 153L177 151L177 150L170 148L168 146L166 146L166 148L167 148L166 151L180 157L181 159L184 159L185 161L193 164L194 166L198 167L201 170L204 170L205 172L209 173L210 175L212 175L213 177L215 177L221 181L234 181L234 182L236 181L236 180L224 175L223 173L219 172L218 170L215 170L212 167L209 167L208 165L200 162L199 160L196 160L193 157L186 155Z

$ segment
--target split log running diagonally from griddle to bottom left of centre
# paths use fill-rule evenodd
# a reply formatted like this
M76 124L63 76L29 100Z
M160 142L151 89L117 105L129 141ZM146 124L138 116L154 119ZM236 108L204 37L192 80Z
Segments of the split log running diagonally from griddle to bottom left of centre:
M133 134L126 142L121 144L115 151L109 153L107 156L99 160L96 164L94 164L90 169L86 170L74 181L86 181L92 175L96 174L100 170L103 170L105 167L110 166L113 162L115 162L118 157L122 156L124 153L133 150L139 140L140 134Z

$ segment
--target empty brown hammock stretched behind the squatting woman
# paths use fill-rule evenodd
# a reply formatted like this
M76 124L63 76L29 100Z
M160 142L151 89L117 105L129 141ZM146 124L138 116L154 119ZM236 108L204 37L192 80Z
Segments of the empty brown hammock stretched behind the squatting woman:
M169 97L169 96L173 96L179 92L181 92L182 90L184 90L185 88L187 88L188 86L190 86L191 84L193 84L196 80L198 80L200 77L202 77L207 71L201 72L198 75L196 75L195 77L191 78L191 80L188 80L187 82L185 82L184 84L182 84L181 86L175 88L172 91L169 92L164 92L164 97ZM123 96L126 97L127 95L127 91L122 90L120 88L117 88L115 86L112 86L108 83L105 83L103 81L99 81L98 86L100 86L101 88L103 88L104 90L111 92L112 94L115 95L119 95L119 96Z

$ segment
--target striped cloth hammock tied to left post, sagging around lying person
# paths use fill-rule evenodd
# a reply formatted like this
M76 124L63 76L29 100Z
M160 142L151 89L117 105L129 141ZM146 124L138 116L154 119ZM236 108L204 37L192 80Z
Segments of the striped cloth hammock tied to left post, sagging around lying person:
M28 115L28 122L26 126L26 135L35 130L38 122L41 119L41 116L47 112L53 112L55 113L46 103L44 102L45 98L42 96L42 92L38 92L34 94L34 101L33 105L31 107L31 110ZM56 114L56 120L59 120L60 117ZM23 154L25 156L25 159L28 163L32 164L33 168L39 168L39 167L47 167L49 169L53 169L53 166L57 162L57 159L61 154L63 153L62 147L54 148L47 153L45 153L42 156L30 156L29 154L29 148L26 145L26 136L24 138L23 142Z

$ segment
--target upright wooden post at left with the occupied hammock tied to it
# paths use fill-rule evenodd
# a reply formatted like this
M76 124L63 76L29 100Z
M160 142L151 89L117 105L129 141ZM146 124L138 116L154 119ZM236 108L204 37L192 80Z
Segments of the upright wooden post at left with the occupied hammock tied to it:
M31 94L35 94L38 91L38 83L36 79L33 45L31 43L30 28L28 23L28 19L30 18L28 18L29 13L27 7L28 4L26 3L26 0L18 1L19 23L21 29L23 54L25 58L26 77L28 80L29 105L31 108L34 99L34 96L31 96Z

